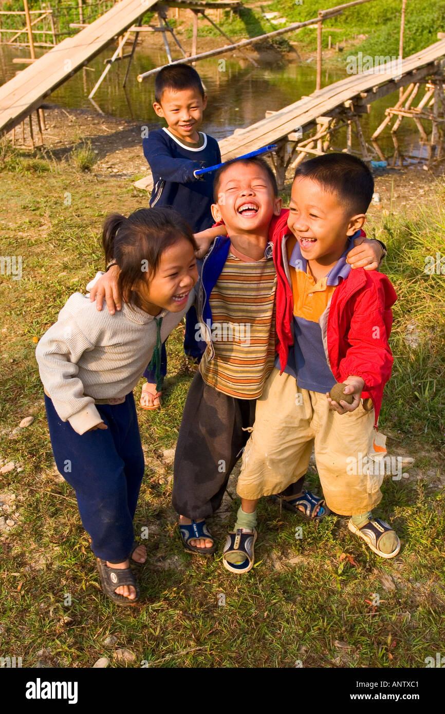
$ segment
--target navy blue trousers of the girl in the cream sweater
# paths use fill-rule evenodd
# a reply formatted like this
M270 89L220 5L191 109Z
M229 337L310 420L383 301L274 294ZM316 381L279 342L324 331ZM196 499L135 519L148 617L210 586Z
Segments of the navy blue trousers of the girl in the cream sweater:
M46 395L45 407L56 466L76 492L91 550L97 558L121 563L134 541L133 518L144 476L133 393L122 404L97 404L108 428L82 435L61 421Z

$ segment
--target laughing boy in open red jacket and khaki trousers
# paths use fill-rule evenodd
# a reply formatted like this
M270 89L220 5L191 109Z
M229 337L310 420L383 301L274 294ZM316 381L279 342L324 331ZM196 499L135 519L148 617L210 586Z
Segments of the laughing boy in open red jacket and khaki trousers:
M375 428L391 375L396 293L386 276L351 271L346 263L373 191L366 164L349 154L317 156L296 170L291 235L274 245L279 357L256 402L244 450L237 492L251 516L227 538L223 563L231 572L253 565L243 545L249 536L252 545L256 539L259 498L282 493L306 473L313 446L326 506L351 516L349 530L374 553L399 553L395 531L371 513L381 501L383 475L363 468L374 463L366 457L376 454ZM346 383L351 404L331 399L336 382Z

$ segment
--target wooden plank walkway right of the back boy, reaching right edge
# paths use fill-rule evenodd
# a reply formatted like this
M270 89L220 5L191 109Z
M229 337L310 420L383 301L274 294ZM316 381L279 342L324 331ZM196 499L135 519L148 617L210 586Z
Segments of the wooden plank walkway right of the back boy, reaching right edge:
M222 159L228 161L260 149L261 146L276 144L276 141L284 139L297 127L304 129L308 124L314 123L317 116L329 115L337 107L344 106L345 101L357 99L359 104L369 104L401 86L435 74L441 69L439 59L442 56L445 56L445 39L416 52L400 64L394 62L394 66L387 71L374 74L374 71L368 70L314 91L266 119L261 119L246 129L236 129L234 134L221 139L219 146ZM398 81L394 79L400 76ZM367 96L361 96L362 94ZM265 106L264 109L268 108Z

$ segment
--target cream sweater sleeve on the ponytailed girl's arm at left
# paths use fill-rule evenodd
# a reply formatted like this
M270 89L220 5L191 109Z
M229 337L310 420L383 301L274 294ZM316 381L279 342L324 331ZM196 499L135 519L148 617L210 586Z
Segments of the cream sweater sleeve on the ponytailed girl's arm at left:
M57 322L46 331L36 347L44 389L61 420L69 421L78 434L102 422L94 399L84 394L84 385L78 377L77 362L93 347L76 321L74 300L77 303L85 299L80 293L72 295L59 313Z

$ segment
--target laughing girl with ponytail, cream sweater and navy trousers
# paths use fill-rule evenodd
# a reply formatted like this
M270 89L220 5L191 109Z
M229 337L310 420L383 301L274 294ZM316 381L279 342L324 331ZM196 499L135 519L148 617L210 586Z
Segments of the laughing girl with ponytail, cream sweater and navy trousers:
M133 518L144 476L132 390L150 362L161 381L161 345L194 302L198 279L191 229L168 208L142 208L104 222L106 261L120 268L121 311L97 311L71 295L39 341L36 358L56 465L76 492L104 593L133 605L143 563Z

